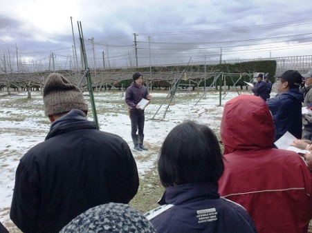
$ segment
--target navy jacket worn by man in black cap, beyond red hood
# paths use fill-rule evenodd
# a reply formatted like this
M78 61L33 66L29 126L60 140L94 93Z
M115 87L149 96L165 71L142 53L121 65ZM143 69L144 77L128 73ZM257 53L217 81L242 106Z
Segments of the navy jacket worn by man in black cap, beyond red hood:
M303 100L303 94L295 88L288 92L281 92L266 101L274 119L274 141L277 141L287 131L297 139L301 139Z

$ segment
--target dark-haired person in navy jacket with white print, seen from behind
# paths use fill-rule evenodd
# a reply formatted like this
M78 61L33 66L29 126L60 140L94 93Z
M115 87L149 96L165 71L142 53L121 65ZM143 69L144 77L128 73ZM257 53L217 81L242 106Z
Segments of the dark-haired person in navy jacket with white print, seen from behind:
M220 198L223 169L210 128L193 121L176 125L160 149L161 206L145 214L157 232L257 232L241 205Z

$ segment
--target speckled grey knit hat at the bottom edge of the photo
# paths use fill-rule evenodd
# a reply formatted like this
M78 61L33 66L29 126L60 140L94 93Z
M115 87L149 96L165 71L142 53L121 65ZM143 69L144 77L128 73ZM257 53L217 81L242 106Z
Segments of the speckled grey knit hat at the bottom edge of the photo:
M59 233L68 232L156 232L143 214L122 203L92 207L75 217Z

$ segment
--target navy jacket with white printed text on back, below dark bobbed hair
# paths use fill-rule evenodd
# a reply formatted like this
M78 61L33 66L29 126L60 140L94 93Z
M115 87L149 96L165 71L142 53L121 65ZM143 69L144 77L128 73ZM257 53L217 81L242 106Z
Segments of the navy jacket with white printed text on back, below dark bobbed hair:
M212 183L167 188L158 203L145 214L157 232L257 232L246 210L220 198Z

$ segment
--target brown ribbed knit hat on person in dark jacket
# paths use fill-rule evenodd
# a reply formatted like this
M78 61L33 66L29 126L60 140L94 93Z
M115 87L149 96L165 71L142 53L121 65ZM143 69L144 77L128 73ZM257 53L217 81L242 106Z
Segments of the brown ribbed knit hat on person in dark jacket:
M44 112L46 116L69 112L72 109L88 111L88 105L82 92L62 74L50 74L44 83Z

